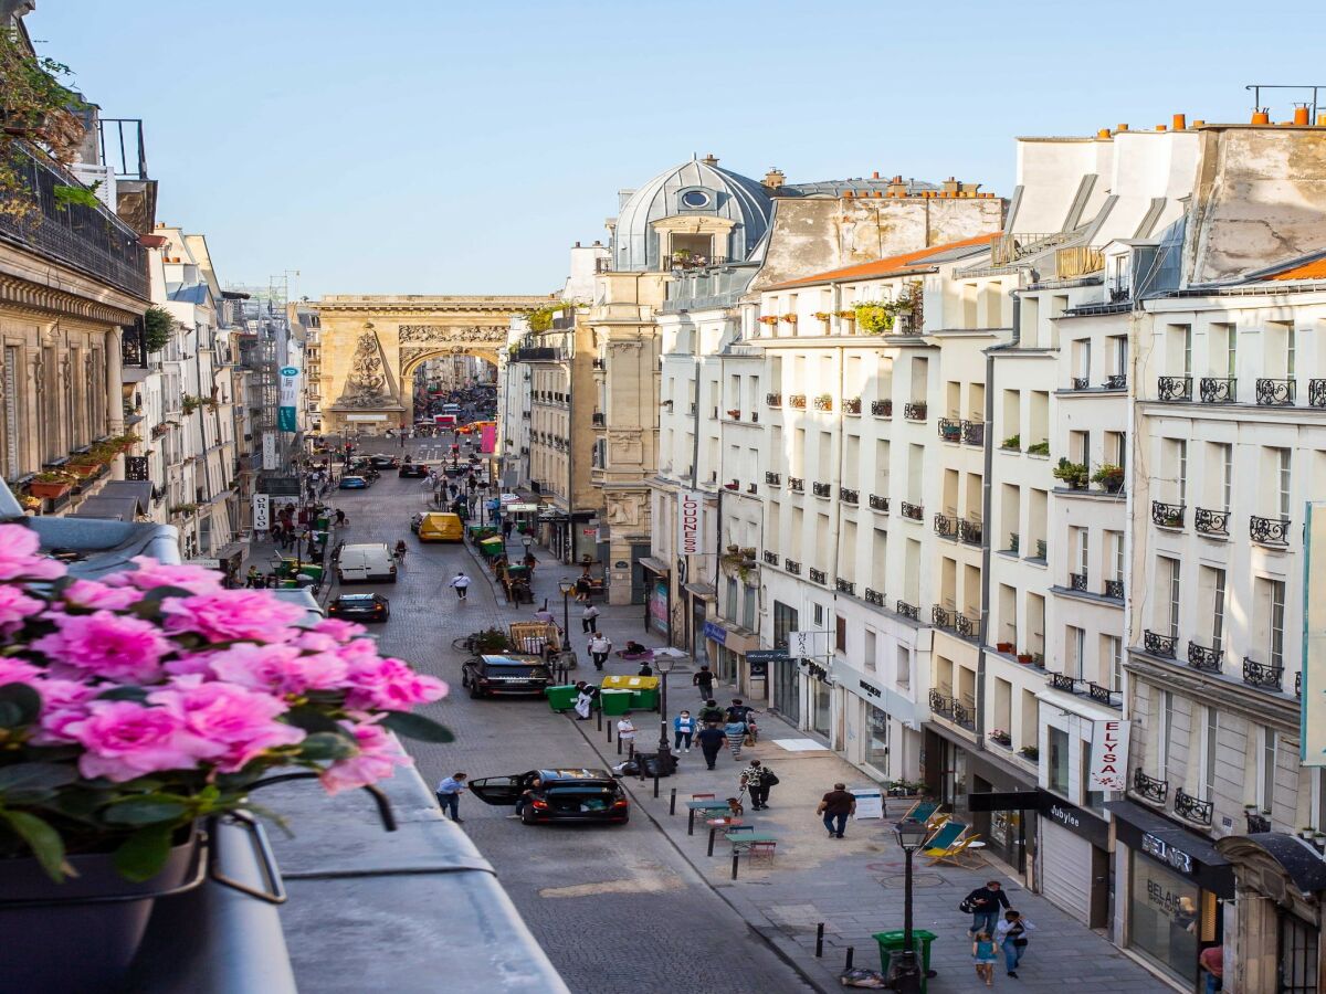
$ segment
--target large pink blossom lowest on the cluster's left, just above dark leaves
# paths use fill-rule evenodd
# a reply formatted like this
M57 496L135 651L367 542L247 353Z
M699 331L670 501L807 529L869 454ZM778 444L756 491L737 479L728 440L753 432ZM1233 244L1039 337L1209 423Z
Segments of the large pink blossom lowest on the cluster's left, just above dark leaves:
M200 759L225 753L225 746L190 732L170 708L134 701L93 701L88 717L62 729L86 749L78 758L84 777L122 783L158 770L192 770Z

